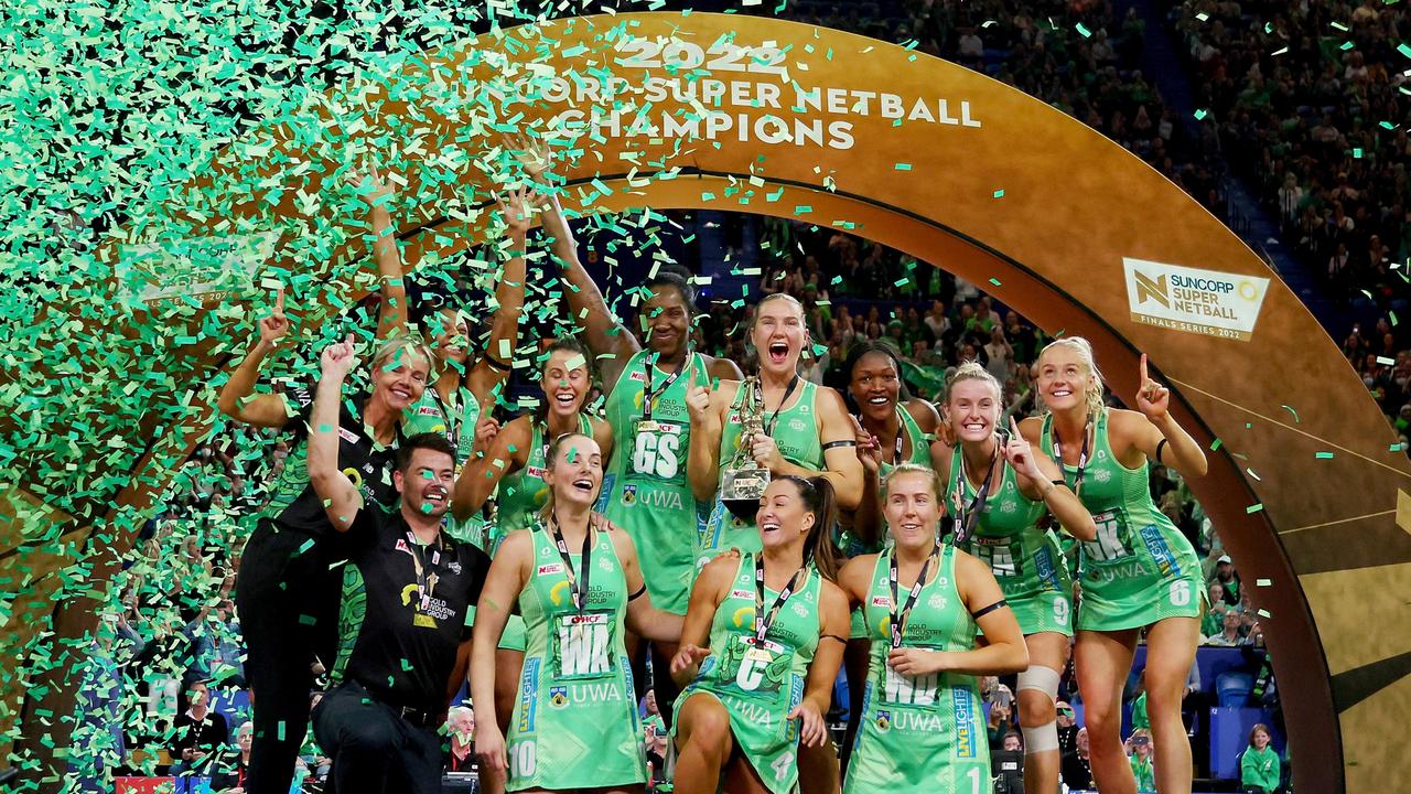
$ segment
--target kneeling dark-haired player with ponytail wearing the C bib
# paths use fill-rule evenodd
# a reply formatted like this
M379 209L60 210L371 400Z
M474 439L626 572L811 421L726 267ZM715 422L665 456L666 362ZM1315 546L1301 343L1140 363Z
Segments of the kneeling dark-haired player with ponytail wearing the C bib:
M761 551L717 557L691 591L672 675L676 791L786 794L800 739L823 746L848 605L832 583L832 486L779 476L755 514Z

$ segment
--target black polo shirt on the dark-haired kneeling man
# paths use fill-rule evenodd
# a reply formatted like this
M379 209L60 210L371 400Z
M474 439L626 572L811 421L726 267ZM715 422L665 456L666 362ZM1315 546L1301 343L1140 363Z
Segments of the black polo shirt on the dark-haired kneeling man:
M358 567L367 591L344 677L384 704L440 711L490 557L444 528L435 543L419 545L401 510L374 506L358 510L343 540L340 551Z

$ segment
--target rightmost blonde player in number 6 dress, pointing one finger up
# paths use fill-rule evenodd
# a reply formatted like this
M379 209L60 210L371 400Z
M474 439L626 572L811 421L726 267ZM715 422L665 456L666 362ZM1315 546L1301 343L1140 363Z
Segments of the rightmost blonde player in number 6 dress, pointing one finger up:
M1136 791L1122 752L1122 687L1144 630L1157 791L1187 794L1191 745L1181 695L1201 639L1205 588L1191 543L1151 502L1147 465L1198 478L1206 472L1205 452L1171 417L1170 391L1147 376L1144 355L1136 411L1103 405L1102 373L1082 338L1044 348L1034 377L1047 413L1020 429L1062 463L1065 483L1098 528L1079 547L1074 648L1094 778L1103 793Z

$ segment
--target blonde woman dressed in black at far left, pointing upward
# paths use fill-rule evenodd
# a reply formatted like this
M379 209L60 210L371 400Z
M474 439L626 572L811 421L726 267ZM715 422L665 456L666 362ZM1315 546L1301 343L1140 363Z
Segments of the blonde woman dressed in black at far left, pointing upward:
M332 667L337 647L341 557L325 543L332 524L305 463L313 390L255 393L260 367L289 332L284 291L260 339L220 390L220 413L240 424L288 428L289 456L246 543L236 603L246 637L246 678L254 702L250 757L253 791L288 791L309 726L315 671ZM391 507L396 444L405 411L420 398L430 350L406 336L384 342L370 369L371 393L344 401L339 414L339 468L353 472L364 499ZM332 568L330 568L332 567Z

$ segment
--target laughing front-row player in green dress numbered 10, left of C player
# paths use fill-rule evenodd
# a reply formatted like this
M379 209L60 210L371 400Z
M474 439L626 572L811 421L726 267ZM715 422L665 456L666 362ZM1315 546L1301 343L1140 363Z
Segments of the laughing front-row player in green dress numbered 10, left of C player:
M476 608L476 752L495 771L508 767L508 791L642 791L646 756L622 630L674 643L682 617L652 606L632 538L593 513L602 487L597 441L560 435L546 462L543 510L504 540ZM495 647L511 605L523 616L526 651L507 742Z

